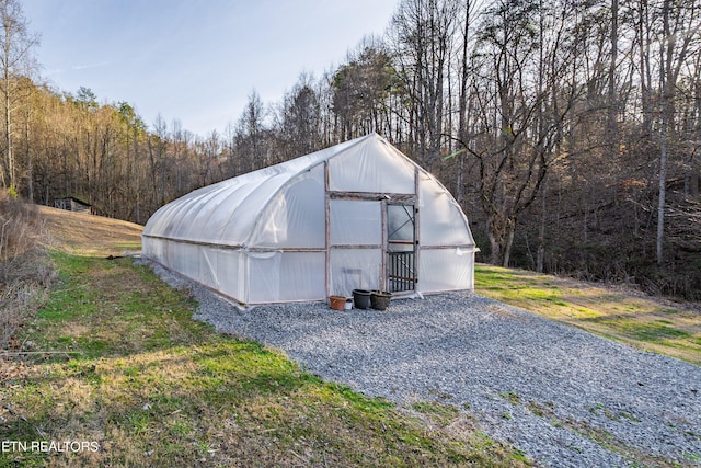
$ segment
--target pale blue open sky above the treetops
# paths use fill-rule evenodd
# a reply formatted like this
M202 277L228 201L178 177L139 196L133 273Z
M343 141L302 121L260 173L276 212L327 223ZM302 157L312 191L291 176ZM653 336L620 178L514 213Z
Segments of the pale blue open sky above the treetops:
M41 76L126 101L152 127L160 113L200 136L222 132L254 89L277 103L301 72L319 78L399 0L22 0Z

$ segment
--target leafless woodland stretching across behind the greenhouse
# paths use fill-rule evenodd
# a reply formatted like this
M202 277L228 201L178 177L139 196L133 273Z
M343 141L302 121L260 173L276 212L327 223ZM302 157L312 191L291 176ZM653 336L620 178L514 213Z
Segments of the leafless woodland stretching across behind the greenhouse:
M143 224L377 132L452 192L480 260L701 298L700 0L401 0L382 37L206 136L43 84L18 0L0 10L0 179L35 203Z

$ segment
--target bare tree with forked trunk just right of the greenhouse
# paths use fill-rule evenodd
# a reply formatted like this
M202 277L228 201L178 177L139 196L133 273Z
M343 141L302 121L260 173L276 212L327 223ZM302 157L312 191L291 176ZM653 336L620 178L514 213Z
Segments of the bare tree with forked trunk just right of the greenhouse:
M542 2L506 0L484 15L473 84L479 121L463 146L495 264L509 264L518 219L567 157L564 129L578 125L583 88L568 75L578 46L573 22L571 10ZM537 33L532 24L547 27Z

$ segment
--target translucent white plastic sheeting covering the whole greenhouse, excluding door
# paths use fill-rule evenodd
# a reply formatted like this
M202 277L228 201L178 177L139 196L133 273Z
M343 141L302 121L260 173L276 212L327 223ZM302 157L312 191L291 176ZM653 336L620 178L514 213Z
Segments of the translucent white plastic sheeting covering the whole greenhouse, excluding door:
M375 134L161 207L143 254L242 304L384 289L388 206L398 204L416 208L415 246L402 248L417 259L414 293L472 288L474 241L460 207Z

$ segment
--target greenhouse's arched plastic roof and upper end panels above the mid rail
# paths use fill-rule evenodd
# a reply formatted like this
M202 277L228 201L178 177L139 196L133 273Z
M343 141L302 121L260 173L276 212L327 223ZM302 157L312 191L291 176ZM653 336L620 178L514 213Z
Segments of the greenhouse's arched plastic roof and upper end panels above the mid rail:
M377 134L196 190L157 210L143 236L228 248L323 248L326 183L334 192L416 195L427 208L426 244L473 243L446 189Z

